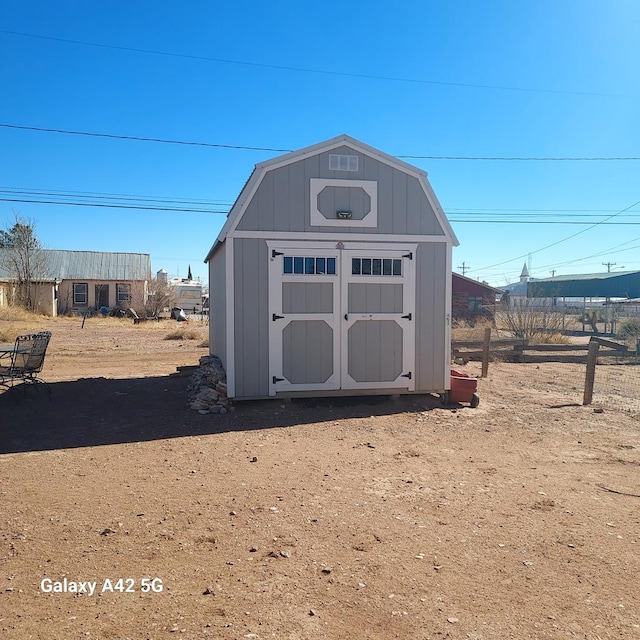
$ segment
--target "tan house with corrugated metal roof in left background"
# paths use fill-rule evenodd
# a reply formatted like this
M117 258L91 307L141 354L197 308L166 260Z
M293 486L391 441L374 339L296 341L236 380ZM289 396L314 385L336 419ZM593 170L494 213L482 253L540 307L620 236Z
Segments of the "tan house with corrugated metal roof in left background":
M144 314L151 258L147 253L42 249L46 278L35 282L36 311L46 315L132 308ZM0 273L0 304L11 301L11 274Z

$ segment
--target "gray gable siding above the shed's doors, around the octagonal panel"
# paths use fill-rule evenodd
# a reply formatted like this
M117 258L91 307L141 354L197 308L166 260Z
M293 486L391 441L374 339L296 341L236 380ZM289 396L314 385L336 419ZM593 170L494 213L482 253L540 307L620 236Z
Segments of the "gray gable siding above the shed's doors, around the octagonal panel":
M333 153L357 155L358 171L331 171L329 155ZM377 228L346 224L312 226L309 211L311 178L375 180L378 183ZM444 234L417 178L350 147L340 147L267 171L249 202L238 229L341 234Z

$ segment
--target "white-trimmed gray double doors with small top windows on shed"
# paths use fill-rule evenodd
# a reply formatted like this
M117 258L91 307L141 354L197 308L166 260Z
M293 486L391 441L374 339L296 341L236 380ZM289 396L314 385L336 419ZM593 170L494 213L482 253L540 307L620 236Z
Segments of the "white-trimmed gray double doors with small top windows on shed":
M413 390L415 251L270 243L270 395Z

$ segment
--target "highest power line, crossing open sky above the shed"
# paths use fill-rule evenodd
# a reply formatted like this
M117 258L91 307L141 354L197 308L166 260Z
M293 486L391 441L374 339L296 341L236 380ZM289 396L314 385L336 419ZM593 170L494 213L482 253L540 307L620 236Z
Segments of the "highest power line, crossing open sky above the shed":
M403 82L403 83L410 83L410 84L428 84L428 85L436 85L436 86L444 86L444 87L461 87L465 89L488 89L493 91L547 93L547 94L575 95L575 96L597 96L597 97L606 97L606 98L634 97L634 96L622 96L618 94L599 93L599 92L592 92L592 91L569 91L569 90L561 90L561 89L537 89L537 88L527 88L527 87L512 87L512 86L489 85L489 84L466 83L466 82L446 82L446 81L440 81L440 80L424 80L420 78L402 78L399 76L383 76L383 75L367 74L367 73L353 73L348 71L331 71L328 69L313 69L309 67L295 67L291 65L276 65L276 64L267 64L264 62L248 62L246 60L232 60L228 58L217 58L212 56L176 53L172 51L160 51L157 49L143 49L140 47L125 47L121 45L100 44L97 42L88 42L86 40L57 38L54 36L43 36L39 34L25 33L21 31L10 31L8 29L0 29L0 33L6 33L13 36L20 36L23 38L36 38L39 40L50 40L52 42L63 42L65 44L75 44L75 45L81 45L84 47L98 47L101 49L114 49L117 51L128 51L132 53L144 53L144 54L155 55L155 56L183 58L186 60L200 60L205 62L217 62L221 64L241 65L245 67L256 67L260 69L275 69L278 71L313 73L313 74L328 75L328 76L338 76L338 77L344 77L344 78L360 78L364 80L382 80L386 82Z

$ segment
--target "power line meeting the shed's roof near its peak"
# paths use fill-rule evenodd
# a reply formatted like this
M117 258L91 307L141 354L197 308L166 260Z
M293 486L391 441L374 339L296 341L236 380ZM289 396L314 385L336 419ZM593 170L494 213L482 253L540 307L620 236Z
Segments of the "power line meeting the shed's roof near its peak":
M0 33L2 31L0 30ZM293 149L281 149L277 147L254 147L250 145L223 144L218 142L198 142L193 140L171 140L167 138L148 138L145 136L129 136L115 133L97 133L94 131L74 131L71 129L52 129L47 127L30 127L26 125L9 124L0 122L0 127L18 129L23 131L37 131L40 133L60 133L73 136L87 136L92 138L109 138L112 140L133 140L135 142L156 142L161 144L178 144L183 146L210 147L218 149L236 149L241 151L272 151L277 153L290 153ZM610 162L610 161L638 161L640 156L418 156L396 155L400 159L420 160L474 160L474 161L503 161L503 162Z

